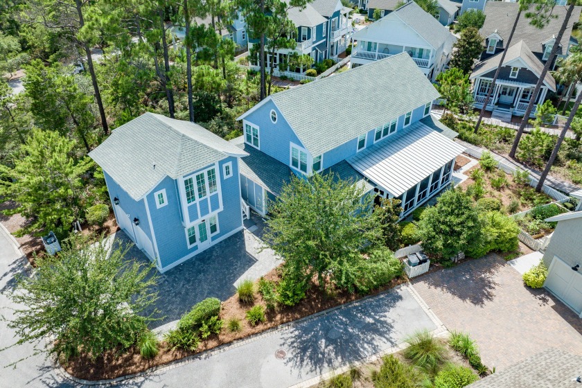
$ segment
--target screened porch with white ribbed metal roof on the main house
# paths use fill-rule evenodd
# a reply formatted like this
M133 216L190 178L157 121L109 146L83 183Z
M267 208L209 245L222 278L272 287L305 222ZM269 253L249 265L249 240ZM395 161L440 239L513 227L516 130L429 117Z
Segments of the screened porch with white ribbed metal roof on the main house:
M455 158L465 148L452 141L457 134L418 121L397 135L349 159L375 186L380 197L402 202L400 218L414 211L450 183Z

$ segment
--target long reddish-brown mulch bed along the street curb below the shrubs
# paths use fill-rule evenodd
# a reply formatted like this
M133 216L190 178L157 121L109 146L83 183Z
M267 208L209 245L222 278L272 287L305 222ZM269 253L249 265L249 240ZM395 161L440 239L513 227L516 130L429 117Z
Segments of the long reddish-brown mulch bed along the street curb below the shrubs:
M274 269L268 274L266 274L265 279L277 281L279 280L279 275L277 270ZM389 288L394 288L396 285L405 283L406 277L402 276L400 278L394 279L388 285L372 292L371 294L378 294ZM349 294L347 292L337 292L337 293L325 293L319 290L317 285L312 285L310 290L306 293L305 299L299 302L296 306L288 307L284 306L279 308L279 310L267 310L266 318L267 320L255 327L250 326L246 319L247 310L249 310L253 305L240 303L238 300L238 295L234 294L232 297L222 302L222 310L220 312L220 319L224 319L224 327L219 335L211 335L200 342L200 347L195 352L190 351L171 351L166 349L165 343L160 344L160 351L158 355L151 359L145 360L139 355L139 349L132 348L127 353L116 357L114 352L107 353L105 357L100 357L96 361L91 361L86 355L81 355L77 358L72 358L67 364L64 364L64 369L71 375L77 378L82 378L85 380L104 380L116 378L119 376L127 376L133 373L138 373L145 371L152 367L157 367L159 365L167 364L174 360L179 360L181 358L187 357L188 355L194 355L202 351L207 351L213 349L216 346L223 344L228 344L235 340L240 340L241 338L248 337L249 335L254 335L256 333L261 333L270 328L274 328L281 324L285 324L290 321L294 321L308 315L315 314L329 308L340 306L344 303L355 301L361 299L364 295L360 294ZM254 305L265 305L265 301L261 297L261 294L256 293L256 298ZM241 330L238 332L231 332L227 328L227 320L231 318L238 318L241 321Z

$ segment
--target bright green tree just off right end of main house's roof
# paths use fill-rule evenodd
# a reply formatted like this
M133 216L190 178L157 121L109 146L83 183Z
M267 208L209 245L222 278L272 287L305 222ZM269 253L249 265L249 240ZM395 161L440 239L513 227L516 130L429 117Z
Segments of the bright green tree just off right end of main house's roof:
M468 74L451 67L436 77L436 90L446 99L445 108L452 112L466 111L473 103Z

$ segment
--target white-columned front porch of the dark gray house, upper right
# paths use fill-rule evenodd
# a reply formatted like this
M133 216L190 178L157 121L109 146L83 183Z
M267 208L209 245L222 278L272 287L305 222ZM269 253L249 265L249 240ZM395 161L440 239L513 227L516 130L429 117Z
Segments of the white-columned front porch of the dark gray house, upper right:
M491 90L492 84L491 78L477 78L475 79L475 85L473 87L473 98L475 106L478 109L482 109L486 96ZM506 112L513 114L515 116L523 116L527 109L527 105L533 96L533 89L536 85L532 85L525 82L513 81L513 80L497 80L495 82L495 89L489 98L486 109L495 112ZM533 110L531 111L531 117L536 116L538 110L538 105L543 104L546 96L548 87L543 85L536 99L536 104L533 105Z

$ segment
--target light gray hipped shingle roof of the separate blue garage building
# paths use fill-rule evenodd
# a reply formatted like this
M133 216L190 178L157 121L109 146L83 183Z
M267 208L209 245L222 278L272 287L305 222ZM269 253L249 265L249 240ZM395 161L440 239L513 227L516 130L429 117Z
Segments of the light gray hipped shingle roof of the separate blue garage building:
M247 155L200 125L146 113L121 125L89 156L134 200L173 179L227 156Z

